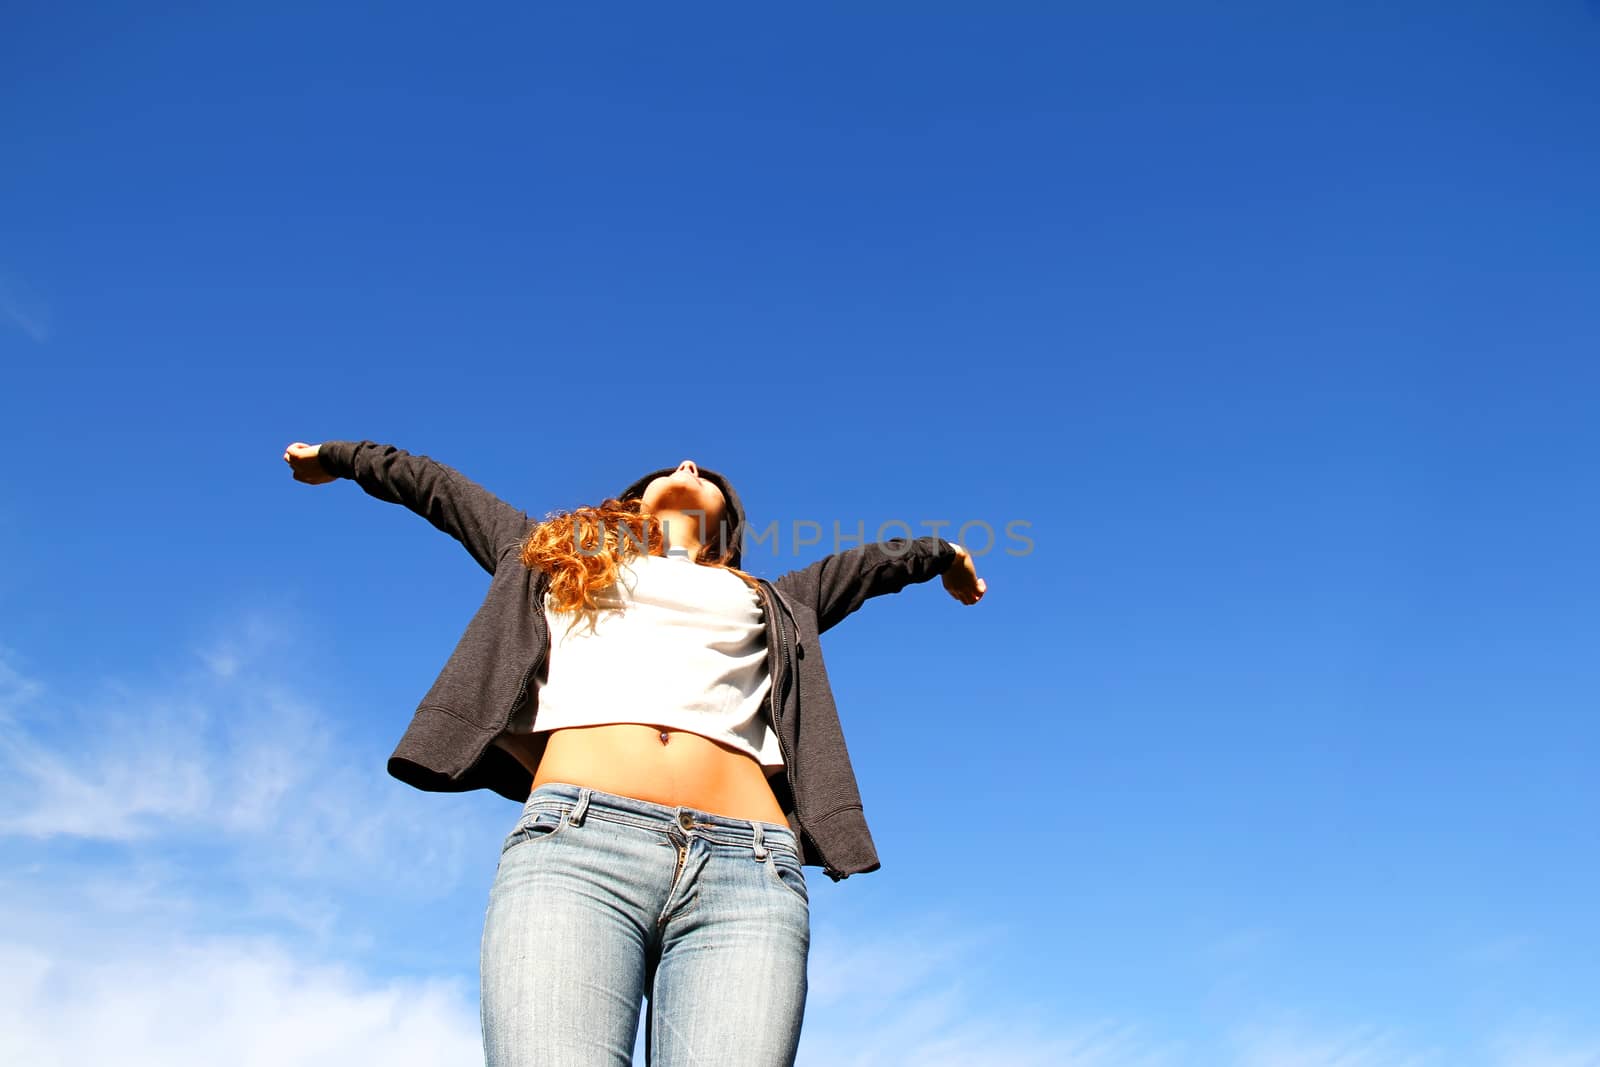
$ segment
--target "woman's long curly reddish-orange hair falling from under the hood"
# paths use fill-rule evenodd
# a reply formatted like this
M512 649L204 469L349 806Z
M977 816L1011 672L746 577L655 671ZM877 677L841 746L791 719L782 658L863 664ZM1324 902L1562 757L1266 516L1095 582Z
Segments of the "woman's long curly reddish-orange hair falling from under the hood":
M594 593L616 582L624 563L642 553L664 555L666 547L661 518L640 498L608 496L595 507L549 512L523 541L522 565L549 573L554 611L592 619L600 609ZM757 589L755 577L730 566L714 544L701 545L694 563L731 571Z

